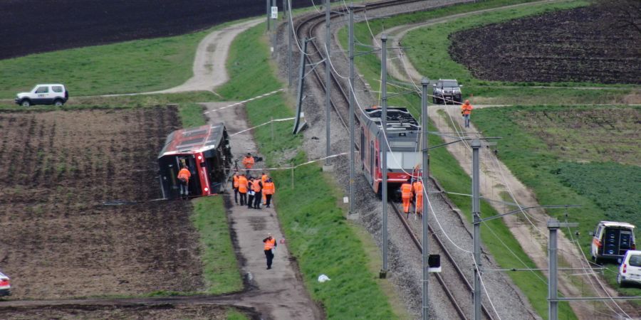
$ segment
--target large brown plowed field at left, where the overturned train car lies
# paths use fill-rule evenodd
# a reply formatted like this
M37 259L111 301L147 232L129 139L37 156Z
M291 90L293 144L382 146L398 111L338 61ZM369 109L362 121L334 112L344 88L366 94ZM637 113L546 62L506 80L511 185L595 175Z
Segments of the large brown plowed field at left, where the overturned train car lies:
M150 201L157 151L178 126L174 108L0 113L0 269L13 298L202 287L191 208Z

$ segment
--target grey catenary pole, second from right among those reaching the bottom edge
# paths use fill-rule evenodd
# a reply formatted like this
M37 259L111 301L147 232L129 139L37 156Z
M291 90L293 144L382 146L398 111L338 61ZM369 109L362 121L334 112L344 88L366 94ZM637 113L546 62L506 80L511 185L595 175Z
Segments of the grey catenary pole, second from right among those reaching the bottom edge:
M481 141L474 139L472 147L472 218L474 218L474 320L481 320L481 197L479 184L479 149Z

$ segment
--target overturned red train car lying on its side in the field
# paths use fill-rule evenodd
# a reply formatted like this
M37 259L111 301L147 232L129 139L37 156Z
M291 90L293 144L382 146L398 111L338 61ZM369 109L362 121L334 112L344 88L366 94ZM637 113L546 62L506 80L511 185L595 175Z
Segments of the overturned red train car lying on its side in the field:
M180 197L178 171L185 165L192 174L189 196L224 191L231 170L229 134L221 123L180 129L167 136L158 155L162 197Z

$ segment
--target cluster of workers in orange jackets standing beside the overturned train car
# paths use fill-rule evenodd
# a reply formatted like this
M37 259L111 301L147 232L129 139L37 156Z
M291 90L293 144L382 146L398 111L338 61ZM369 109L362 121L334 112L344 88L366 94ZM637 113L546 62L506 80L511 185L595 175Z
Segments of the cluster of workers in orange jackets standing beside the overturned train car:
M276 193L276 186L267 174L261 174L260 178L254 178L245 174L239 174L238 171L234 172L232 176L234 181L234 201L238 203L238 195L240 194L240 205L247 205L249 209L261 209L262 204L266 208L271 206L271 197Z

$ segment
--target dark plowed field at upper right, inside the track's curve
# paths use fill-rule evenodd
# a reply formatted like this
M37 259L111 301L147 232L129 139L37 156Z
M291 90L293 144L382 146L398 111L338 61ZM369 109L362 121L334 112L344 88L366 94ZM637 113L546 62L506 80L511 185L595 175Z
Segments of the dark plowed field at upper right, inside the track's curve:
M636 11L588 6L461 31L450 37L449 52L483 80L640 84L641 32L626 23L640 21L636 5Z

